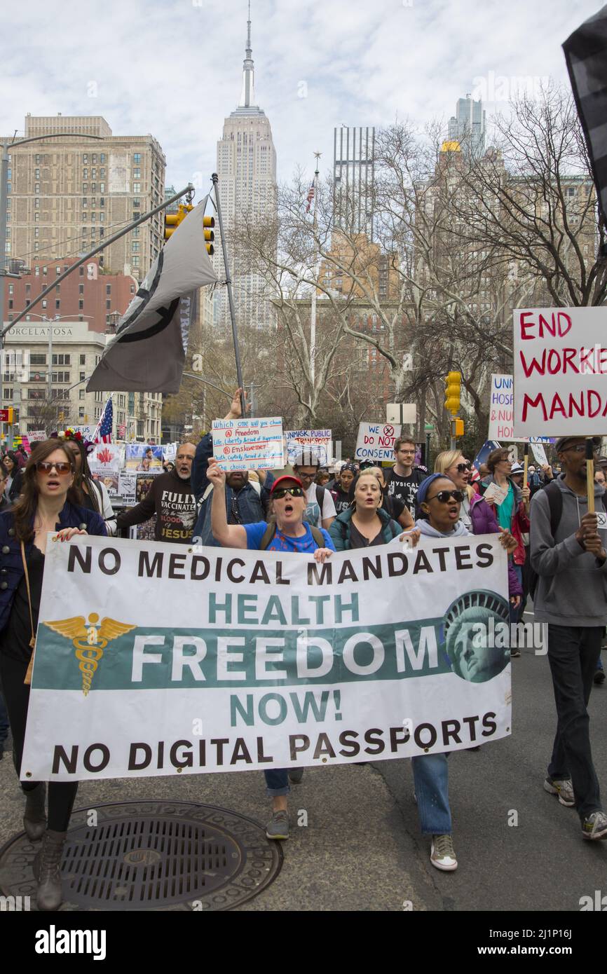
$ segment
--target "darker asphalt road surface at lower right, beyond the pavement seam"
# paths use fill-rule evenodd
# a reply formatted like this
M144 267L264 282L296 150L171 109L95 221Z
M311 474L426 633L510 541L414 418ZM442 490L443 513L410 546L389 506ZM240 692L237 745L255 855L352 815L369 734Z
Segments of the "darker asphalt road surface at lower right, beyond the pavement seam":
M526 617L525 621L531 617ZM607 653L602 653L607 668ZM594 767L607 804L607 681L589 702ZM521 650L512 659L512 736L449 758L454 873L430 864L419 833L410 762L378 762L415 847L427 883L427 909L579 911L580 897L607 894L607 841L582 838L575 808L543 790L555 731L547 656ZM517 825L509 825L517 812ZM429 895L428 884L433 893Z

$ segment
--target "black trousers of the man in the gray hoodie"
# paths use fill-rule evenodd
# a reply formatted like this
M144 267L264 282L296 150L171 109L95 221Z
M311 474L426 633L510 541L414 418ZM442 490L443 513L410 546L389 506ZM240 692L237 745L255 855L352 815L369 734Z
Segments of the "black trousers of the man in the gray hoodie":
M557 716L548 773L555 781L571 778L580 818L601 807L590 751L587 705L602 633L602 626L548 627L548 658Z

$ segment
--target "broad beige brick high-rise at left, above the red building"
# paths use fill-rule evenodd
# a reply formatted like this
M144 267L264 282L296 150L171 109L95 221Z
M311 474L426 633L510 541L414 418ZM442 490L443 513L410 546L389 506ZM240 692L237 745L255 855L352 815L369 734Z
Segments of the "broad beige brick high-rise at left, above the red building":
M9 148L6 252L25 267L87 253L163 200L165 156L153 135L113 135L95 115L25 117L26 137L47 133ZM135 227L101 252L99 267L141 281L162 248L163 225L157 213Z

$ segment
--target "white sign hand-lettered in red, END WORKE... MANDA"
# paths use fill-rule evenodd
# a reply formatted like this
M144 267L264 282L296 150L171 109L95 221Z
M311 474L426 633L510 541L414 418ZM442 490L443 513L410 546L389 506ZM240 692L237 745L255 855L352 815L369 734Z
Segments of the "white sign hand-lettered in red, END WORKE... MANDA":
M514 435L602 435L605 308L514 312Z

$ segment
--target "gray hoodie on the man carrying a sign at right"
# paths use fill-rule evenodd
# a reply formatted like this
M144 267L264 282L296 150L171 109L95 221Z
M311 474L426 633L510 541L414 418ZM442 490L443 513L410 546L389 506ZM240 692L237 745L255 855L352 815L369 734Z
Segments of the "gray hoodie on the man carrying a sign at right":
M607 621L607 561L601 566L576 541L576 531L588 511L588 500L555 481L563 495L563 509L554 537L545 491L531 499L531 566L538 573L534 610L538 622L554 625L605 625ZM552 488L553 489L553 488ZM594 506L604 510L603 488L594 484ZM607 533L599 531L607 548Z

